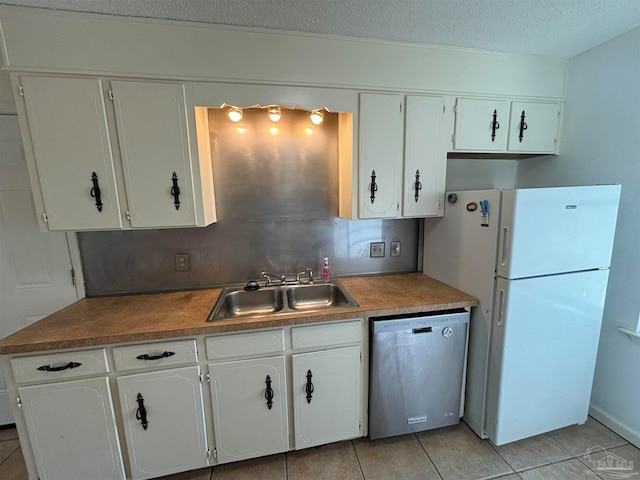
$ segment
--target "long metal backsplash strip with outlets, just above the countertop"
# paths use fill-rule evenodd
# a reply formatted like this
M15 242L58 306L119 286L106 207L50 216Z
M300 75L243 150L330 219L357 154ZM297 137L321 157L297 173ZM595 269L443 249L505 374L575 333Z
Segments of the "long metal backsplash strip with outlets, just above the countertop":
M187 290L257 279L260 271L322 272L334 276L418 270L419 220L328 217L220 221L206 228L78 233L88 296ZM390 257L391 241L402 242ZM385 242L385 257L370 258L369 243ZM177 272L176 253L189 254Z

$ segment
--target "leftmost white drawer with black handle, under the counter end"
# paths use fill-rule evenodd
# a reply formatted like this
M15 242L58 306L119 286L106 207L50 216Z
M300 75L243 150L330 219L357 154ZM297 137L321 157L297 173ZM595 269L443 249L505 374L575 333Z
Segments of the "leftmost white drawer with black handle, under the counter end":
M104 348L59 352L11 359L16 383L81 377L109 371Z

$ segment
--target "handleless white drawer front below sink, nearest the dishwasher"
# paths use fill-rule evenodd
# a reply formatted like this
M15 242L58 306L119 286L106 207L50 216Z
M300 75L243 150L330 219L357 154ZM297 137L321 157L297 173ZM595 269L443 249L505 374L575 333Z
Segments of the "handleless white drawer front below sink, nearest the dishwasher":
M294 349L360 343L361 341L361 320L293 327L291 329L291 345Z

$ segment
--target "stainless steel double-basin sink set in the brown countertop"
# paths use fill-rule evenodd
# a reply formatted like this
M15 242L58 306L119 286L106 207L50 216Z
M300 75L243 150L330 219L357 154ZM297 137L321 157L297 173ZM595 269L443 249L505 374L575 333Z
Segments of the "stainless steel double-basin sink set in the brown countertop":
M226 287L220 293L207 322L358 306L336 280L329 283L269 286L259 290L244 290L244 285L238 285Z

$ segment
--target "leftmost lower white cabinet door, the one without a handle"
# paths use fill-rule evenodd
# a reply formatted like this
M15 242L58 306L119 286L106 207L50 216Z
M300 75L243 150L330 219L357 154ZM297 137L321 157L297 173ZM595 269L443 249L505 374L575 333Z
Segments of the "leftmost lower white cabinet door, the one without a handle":
M124 479L107 378L21 387L40 480Z

